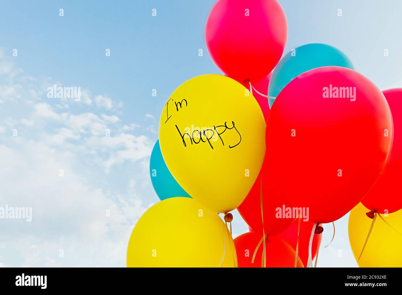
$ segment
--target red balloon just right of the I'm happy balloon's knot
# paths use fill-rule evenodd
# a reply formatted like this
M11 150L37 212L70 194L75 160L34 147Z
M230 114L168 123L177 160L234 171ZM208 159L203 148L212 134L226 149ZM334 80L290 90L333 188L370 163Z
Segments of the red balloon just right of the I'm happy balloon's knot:
M263 169L246 199L237 208L248 226L261 236L263 235L263 220L261 219L260 185L261 174L265 173L271 173L271 169ZM267 177L273 179L275 175L271 173ZM282 209L283 204L289 205L289 200L281 194L280 190L275 191L275 188L276 186L269 186L267 183L263 183L264 234L269 236L283 232L294 220L294 218L277 218L277 208Z

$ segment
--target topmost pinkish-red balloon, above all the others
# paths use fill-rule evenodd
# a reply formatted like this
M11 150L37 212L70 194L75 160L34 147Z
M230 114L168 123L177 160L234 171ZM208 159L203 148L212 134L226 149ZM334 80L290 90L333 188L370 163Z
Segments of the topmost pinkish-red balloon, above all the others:
M277 0L219 0L205 27L212 60L237 81L256 82L268 75L286 40L286 16Z

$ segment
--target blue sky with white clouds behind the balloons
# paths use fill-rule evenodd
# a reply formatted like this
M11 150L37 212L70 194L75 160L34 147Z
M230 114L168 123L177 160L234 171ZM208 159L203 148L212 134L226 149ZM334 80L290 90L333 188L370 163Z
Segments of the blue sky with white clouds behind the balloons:
M279 2L285 53L328 43L381 90L402 85L402 2ZM204 39L214 3L2 1L0 205L32 207L33 217L1 221L0 266L125 266L133 225L158 201L148 165L164 102L183 81L220 73ZM81 87L81 100L47 98L53 84ZM246 232L235 220L234 235ZM332 237L324 228L322 246ZM347 216L318 266L355 266Z

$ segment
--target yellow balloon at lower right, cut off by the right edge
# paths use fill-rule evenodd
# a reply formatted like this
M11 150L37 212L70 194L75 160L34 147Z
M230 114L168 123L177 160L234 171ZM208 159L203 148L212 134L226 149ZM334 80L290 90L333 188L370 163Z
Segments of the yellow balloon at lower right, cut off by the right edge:
M367 238L372 219L366 216L370 210L359 203L349 216L349 242L356 260ZM402 233L402 210L381 217ZM367 241L359 267L402 267L402 236L377 216Z

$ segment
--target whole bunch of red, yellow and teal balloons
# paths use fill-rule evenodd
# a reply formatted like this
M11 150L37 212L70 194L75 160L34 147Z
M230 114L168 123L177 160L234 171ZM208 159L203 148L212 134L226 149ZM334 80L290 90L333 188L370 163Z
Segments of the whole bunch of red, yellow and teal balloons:
M277 0L218 0L205 39L225 75L193 77L164 104L150 160L161 201L135 225L127 266L312 267L322 224L363 197L374 221L399 214L402 89L384 97L326 44L280 60L287 20ZM250 232L233 240L236 208ZM361 241L357 208L355 256L375 249Z

